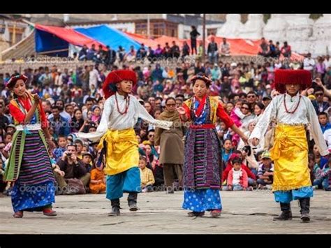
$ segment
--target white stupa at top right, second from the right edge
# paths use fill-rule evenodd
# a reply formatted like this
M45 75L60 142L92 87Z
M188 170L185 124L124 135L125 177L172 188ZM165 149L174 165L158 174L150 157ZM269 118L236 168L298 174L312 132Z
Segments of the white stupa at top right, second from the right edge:
M286 40L293 52L307 53L311 50L309 38L313 34L314 21L309 14L286 14L284 19L288 22Z

